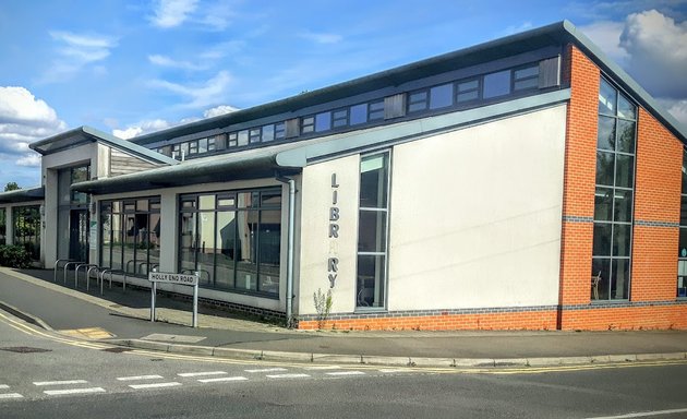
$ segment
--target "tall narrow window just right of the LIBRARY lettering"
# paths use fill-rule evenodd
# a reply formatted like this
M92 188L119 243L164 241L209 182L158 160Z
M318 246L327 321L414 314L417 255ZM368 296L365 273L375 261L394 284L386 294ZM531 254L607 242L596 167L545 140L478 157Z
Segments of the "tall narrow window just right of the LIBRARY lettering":
M360 161L355 307L383 308L386 300L389 153Z

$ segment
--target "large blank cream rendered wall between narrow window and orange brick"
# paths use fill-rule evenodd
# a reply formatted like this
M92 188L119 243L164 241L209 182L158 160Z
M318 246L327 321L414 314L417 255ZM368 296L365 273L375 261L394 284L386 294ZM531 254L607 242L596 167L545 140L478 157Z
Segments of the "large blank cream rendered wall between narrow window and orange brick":
M566 106L394 148L388 309L558 302Z

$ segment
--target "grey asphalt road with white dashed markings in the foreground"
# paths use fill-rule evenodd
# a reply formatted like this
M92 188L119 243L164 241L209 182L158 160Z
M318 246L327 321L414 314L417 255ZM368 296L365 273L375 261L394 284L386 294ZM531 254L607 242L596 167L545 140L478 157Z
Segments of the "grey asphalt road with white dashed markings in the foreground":
M7 419L678 418L686 387L685 362L472 373L119 352L0 312Z

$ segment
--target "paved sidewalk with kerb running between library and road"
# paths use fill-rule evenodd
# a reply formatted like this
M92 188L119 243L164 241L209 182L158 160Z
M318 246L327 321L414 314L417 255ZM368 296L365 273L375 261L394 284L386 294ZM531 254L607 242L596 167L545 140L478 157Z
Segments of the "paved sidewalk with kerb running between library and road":
M95 279L74 289L61 273L0 267L0 309L71 336L173 352L233 358L415 366L546 366L687 359L687 332L347 332L292 331L158 295L149 322L149 290L120 285L99 295ZM93 334L92 331L96 331ZM105 333L105 334L103 334Z

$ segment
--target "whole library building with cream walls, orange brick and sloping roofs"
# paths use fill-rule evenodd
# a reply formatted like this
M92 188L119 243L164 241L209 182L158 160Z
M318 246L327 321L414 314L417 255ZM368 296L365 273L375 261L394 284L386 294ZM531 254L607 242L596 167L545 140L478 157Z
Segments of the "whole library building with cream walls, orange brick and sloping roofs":
M687 328L686 144L564 21L131 141L44 139L0 242L128 286L197 273L201 301L304 330Z

